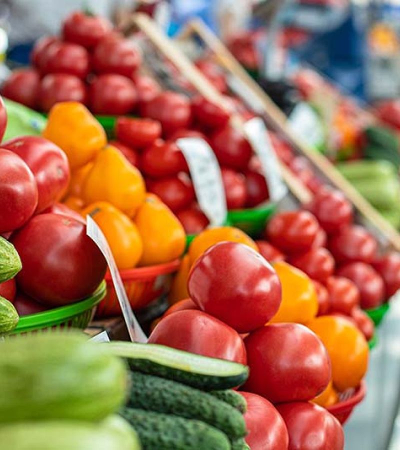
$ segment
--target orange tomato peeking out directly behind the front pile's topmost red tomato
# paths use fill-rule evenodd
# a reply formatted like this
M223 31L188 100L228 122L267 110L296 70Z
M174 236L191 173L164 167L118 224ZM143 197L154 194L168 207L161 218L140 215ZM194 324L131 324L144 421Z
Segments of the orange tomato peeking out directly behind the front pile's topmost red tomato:
M257 244L245 232L233 226L217 226L215 228L207 228L201 231L192 240L188 254L190 262L193 262L204 253L206 249L212 245L227 240L229 242L238 242L248 245L250 248L258 252Z

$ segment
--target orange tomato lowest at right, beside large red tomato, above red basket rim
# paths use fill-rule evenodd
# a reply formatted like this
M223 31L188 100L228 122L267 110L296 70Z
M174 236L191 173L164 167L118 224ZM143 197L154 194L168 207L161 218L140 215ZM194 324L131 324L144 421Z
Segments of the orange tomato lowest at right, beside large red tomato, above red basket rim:
M368 343L361 331L333 315L316 317L307 326L319 336L330 356L333 386L339 392L356 387L368 367Z

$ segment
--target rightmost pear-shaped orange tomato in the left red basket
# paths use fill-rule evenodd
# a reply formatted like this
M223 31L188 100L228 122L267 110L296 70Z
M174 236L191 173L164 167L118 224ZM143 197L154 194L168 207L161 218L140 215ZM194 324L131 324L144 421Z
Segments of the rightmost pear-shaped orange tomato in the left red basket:
M162 264L182 255L186 246L183 226L156 195L146 194L134 222L143 242L139 265Z

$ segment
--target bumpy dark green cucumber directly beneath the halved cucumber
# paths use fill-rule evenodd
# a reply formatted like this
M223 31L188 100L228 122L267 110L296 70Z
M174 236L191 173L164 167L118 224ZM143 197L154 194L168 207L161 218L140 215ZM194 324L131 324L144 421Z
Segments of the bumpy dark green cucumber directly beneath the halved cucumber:
M201 420L229 439L246 435L244 418L237 409L199 389L159 376L132 372L128 406Z

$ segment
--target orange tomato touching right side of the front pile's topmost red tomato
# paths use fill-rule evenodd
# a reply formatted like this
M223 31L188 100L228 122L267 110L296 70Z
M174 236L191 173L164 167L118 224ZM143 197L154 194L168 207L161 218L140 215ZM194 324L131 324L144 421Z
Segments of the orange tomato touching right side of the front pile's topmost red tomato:
M276 261L272 266L282 285L282 301L269 323L305 324L312 320L318 312L318 299L311 279L287 262Z

